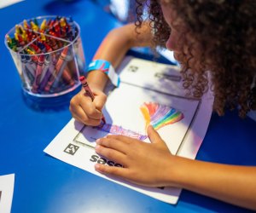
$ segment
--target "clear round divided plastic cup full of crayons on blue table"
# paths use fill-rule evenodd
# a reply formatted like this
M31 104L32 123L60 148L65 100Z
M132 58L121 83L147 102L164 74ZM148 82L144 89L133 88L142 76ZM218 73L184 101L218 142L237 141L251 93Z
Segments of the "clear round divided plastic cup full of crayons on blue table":
M85 66L79 33L71 17L52 15L23 20L6 34L26 95L44 99L79 87Z

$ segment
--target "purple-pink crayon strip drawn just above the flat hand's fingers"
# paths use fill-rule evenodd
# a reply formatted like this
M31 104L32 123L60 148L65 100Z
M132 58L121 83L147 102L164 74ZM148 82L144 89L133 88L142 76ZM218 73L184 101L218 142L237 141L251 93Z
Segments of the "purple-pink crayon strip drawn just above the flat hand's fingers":
M147 135L141 135L141 134L131 131L131 130L125 130L124 128L122 128L121 126L118 126L118 125L102 124L100 126L96 126L95 128L97 130L102 130L102 131L111 133L113 135L129 136L131 138L135 138L140 141L143 141L148 137Z

